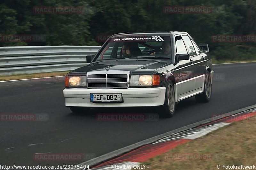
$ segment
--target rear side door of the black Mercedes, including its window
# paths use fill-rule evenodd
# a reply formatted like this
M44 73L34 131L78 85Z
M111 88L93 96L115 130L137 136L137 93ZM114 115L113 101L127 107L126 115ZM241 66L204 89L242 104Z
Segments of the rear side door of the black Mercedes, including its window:
M203 54L196 47L196 44L191 40L188 35L182 35L182 38L185 42L185 45L188 49L190 58L193 60L191 67L193 67L193 75L191 77L191 85L193 85L193 90L202 90L203 80L204 80L204 63L202 62L205 57L203 58Z

